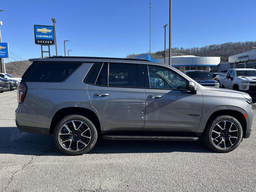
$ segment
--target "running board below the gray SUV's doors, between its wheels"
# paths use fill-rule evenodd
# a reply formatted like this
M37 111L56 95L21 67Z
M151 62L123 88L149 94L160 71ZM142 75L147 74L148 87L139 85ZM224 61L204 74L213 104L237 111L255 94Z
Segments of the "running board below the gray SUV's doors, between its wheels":
M178 136L122 136L103 135L107 140L166 140L166 141L197 141L198 137L178 137Z

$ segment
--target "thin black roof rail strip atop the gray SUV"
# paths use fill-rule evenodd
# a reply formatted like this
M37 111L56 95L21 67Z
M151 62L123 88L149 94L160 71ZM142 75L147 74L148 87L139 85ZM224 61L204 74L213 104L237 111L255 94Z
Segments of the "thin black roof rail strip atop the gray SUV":
M108 59L108 60L131 60L131 61L148 61L148 60L141 60L141 59L129 59L129 58L111 58L111 57L79 57L79 56L54 56L54 57L46 57L46 58L34 58L34 59L29 59L31 62L33 61L40 61L40 60L46 60L46 59L50 59L50 58L68 58L68 59L90 59L90 60L104 60L104 59Z

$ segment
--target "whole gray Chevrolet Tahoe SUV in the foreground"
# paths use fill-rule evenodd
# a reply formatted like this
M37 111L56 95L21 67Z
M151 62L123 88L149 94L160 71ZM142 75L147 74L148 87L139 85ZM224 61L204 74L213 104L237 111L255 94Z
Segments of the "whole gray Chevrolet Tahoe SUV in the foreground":
M230 152L252 131L252 98L201 86L173 67L145 60L34 60L18 88L21 131L54 134L68 155L109 140L203 140Z

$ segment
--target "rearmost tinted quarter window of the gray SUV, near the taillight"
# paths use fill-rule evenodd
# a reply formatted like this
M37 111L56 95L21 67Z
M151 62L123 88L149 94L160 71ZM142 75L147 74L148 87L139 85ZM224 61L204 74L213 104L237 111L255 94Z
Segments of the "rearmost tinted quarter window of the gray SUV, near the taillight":
M30 75L28 82L62 82L82 63L78 62L39 62Z

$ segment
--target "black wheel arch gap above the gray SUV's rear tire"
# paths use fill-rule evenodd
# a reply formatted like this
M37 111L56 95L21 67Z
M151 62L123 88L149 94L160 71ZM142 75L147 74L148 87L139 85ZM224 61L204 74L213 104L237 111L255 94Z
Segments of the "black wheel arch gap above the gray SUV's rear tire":
M58 110L54 114L54 116L51 120L50 134L52 134L54 132L54 128L55 128L56 124L58 124L58 122L62 118L64 118L67 115L72 115L72 114L82 115L82 116L88 118L96 127L98 134L101 134L102 129L101 129L101 124L100 124L100 119L98 118L96 113L88 108L82 108L82 107L66 107L66 108L62 108L62 109Z

